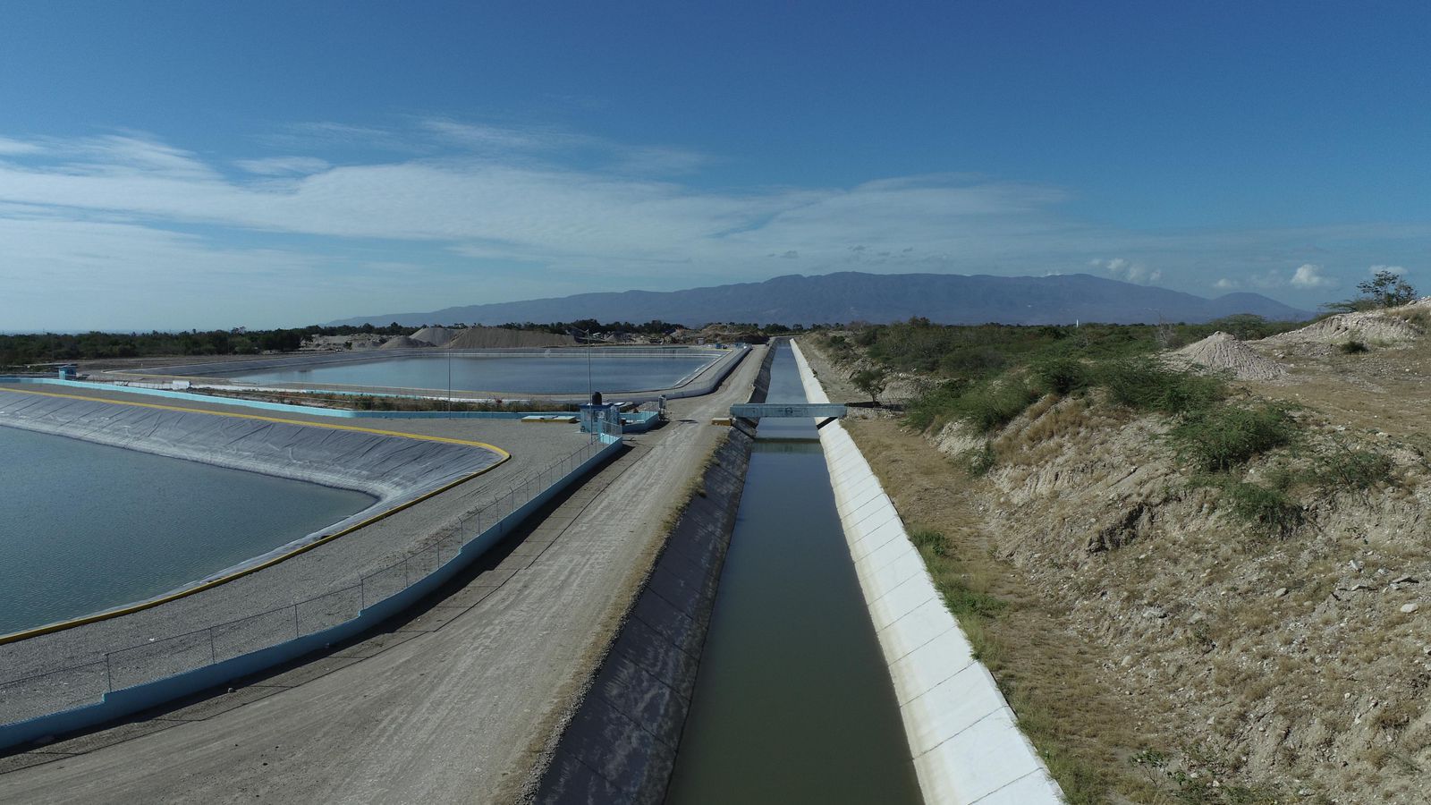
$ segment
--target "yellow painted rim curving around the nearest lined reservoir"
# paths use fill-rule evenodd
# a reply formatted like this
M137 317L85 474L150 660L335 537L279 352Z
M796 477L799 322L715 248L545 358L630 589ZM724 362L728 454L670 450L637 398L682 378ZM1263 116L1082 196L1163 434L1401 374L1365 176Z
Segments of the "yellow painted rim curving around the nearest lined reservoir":
M511 453L508 453L508 451L505 451L505 450L502 450L499 447L492 447L491 444L485 444L485 443L481 443L481 441L464 441L464 440L459 440L459 438L424 437L424 435L405 434L405 433L398 433L398 431L381 431L381 430L359 428L359 427L351 427L351 425L336 425L336 424L332 424L332 425L331 424L313 424L313 423L305 423L305 421L299 421L299 420L280 420L280 418L273 418L273 417L256 417L256 415L250 415L250 414L226 414L226 413L222 413L222 411L203 411L203 410L199 410L199 408L177 408L177 407L172 407L172 405L156 405L156 404L152 404L152 403L122 403L122 401L116 401L116 400L104 400L102 397L80 397L80 395L74 395L74 394L50 394L50 392L44 392L44 391L21 391L21 390L17 390L17 388L4 388L4 390L0 390L0 391L11 391L14 394L37 394L40 397L67 397L67 398L73 398L73 400L93 400L96 403L113 403L116 405L137 405L137 407L142 407L142 408L165 408L165 410L169 410L169 411L192 411L195 414L216 414L216 415L220 415L220 417L238 417L238 418L245 418L245 420L262 420L262 421L269 421L269 423L285 423L285 424L295 424L295 425L326 427L326 428L333 428L333 430L352 430L352 431L375 433L375 434L382 434L382 435L398 435L398 437L406 437L406 438L424 438L424 440L428 440L428 441L445 441L445 443L451 443L451 444L468 444L468 445L475 445L475 447L485 447L488 450L495 450L501 455L501 458L497 463L489 464L487 467L482 467L481 470L478 470L478 471L475 471L475 473L472 473L469 476L464 476L464 477L461 477L461 478L458 478L458 480L455 480L455 481L452 481L449 484L444 484L444 486L441 486L441 487L438 487L438 488L435 488L435 490L432 490L432 491L429 491L426 494L422 494L421 497L409 500L408 503L404 503L401 506L394 506L392 508L388 508L386 511L381 511L378 514L373 514L372 517L363 520L361 523L355 523L355 524L352 524L352 526L349 526L349 527L346 527L346 529L343 529L341 531L335 531L332 534L328 534L326 537L313 540L312 543L308 543L305 546L299 546L299 547L296 547L296 549L293 549L293 550L290 550L288 553L275 556L273 559L269 559L266 561L255 564L253 567L245 567L243 570L238 570L235 573L229 573L228 576L222 576L219 579L212 579L209 582L205 582L203 584L196 584L196 586L189 587L186 590L179 590L177 593L170 593L170 594L159 597L159 599L153 599L153 600L147 600L147 602L140 602L140 603L130 604L130 606L126 606L126 607L122 607L122 609L114 609L114 610L109 610L109 612L100 612L100 613L96 613L96 614L86 614L84 617L76 617L76 619L72 619L72 620L62 620L60 623L50 623L50 625L46 625L46 626L39 626L36 629L27 629L24 632L14 632L11 635L0 635L0 646L3 646L6 643L16 643L16 642L26 640L26 639L30 639L30 637L39 637L40 635L53 635L54 632L63 632L66 629L74 629L76 626L84 626L86 623L96 623L96 622L100 622L100 620L109 620L112 617L120 617L123 614L132 614L132 613L142 612L142 610L146 610L146 609L153 609L153 607L156 607L159 604L165 604L165 603L169 603L169 602L176 602L179 599L189 597L189 596L192 596L195 593L202 593L203 590L209 590L209 589L218 587L219 584L228 584L229 582L232 582L235 579L242 579L243 576L248 576L250 573L258 573L259 570L263 570L263 569L268 569L268 567L273 567L275 564L278 564L280 561L292 559L292 557L295 557L295 556L298 556L301 553L308 553L308 551L313 550L318 546L328 544L328 543L336 540L338 537L342 537L345 534L351 534L351 533L353 533L353 531L356 531L359 529L365 529L365 527L368 527L368 526L371 526L371 524L373 524L373 523L376 523L379 520L385 520L385 519L388 519L388 517L391 517L391 516L402 511L404 508L409 508L412 506L416 506L416 504L422 503L424 500L428 500L429 497L442 494L442 493L445 493L445 491L448 491L448 490L451 490L451 488L454 488L456 486L465 484L467 481L471 481L472 478L475 478L475 477L478 477L478 476L481 476L484 473L488 473L492 468L504 464L508 458L512 457ZM219 625L216 625L216 626L219 626Z

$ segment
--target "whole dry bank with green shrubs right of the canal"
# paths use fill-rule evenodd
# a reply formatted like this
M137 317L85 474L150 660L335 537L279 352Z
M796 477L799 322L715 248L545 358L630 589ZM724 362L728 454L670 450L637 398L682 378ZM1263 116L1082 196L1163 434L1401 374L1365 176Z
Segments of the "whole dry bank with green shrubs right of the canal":
M831 394L902 403L847 427L1070 801L1410 804L1428 308L806 342ZM1163 360L1209 329L1285 374Z

